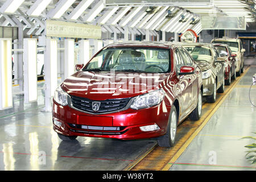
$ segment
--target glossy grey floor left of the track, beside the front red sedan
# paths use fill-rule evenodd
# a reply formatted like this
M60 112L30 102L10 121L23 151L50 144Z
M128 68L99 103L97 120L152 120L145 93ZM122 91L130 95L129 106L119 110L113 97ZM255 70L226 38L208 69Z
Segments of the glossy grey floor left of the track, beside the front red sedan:
M14 86L14 108L0 111L0 170L122 170L156 144L87 137L63 142L52 130L52 114L43 111L44 82L38 87L38 102L24 104Z

